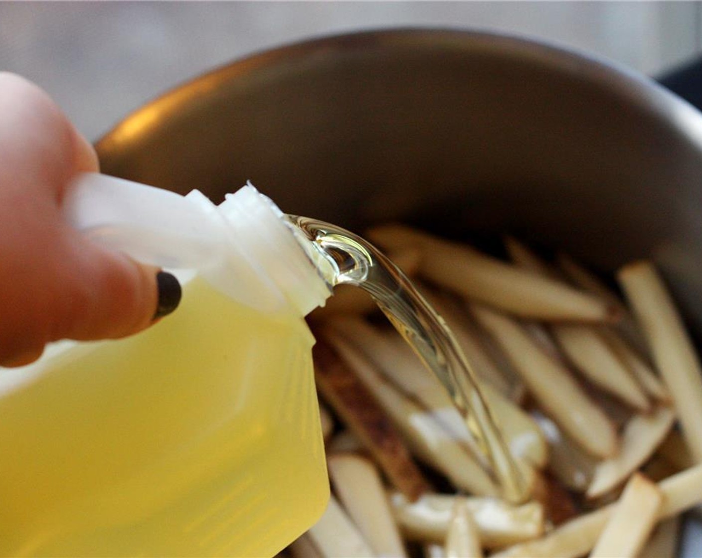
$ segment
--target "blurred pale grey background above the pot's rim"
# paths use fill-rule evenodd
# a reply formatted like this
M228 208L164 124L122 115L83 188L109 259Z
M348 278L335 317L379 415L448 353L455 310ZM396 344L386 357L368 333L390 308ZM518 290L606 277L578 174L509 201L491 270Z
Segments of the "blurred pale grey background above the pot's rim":
M547 39L658 76L702 51L700 2L0 2L0 69L89 139L208 69L312 36L470 27Z

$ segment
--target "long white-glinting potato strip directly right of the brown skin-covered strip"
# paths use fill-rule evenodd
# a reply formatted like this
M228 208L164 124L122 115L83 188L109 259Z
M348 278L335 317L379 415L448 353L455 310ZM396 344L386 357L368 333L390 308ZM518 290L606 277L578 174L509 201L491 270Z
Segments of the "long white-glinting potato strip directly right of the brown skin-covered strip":
M398 392L358 350L338 334L325 330L324 338L338 351L348 369L383 405L385 412L420 459L446 475L458 489L479 496L498 495L498 487L479 465L470 447L450 437L431 413L426 413L416 402Z

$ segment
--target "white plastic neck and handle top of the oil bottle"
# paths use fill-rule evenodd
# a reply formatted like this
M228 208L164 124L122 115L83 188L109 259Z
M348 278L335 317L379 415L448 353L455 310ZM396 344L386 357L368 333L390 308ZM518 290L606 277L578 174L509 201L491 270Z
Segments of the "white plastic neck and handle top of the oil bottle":
M246 185L215 206L98 173L81 175L65 198L67 220L104 246L171 270L197 270L213 286L261 312L299 316L331 295L307 240L286 215Z

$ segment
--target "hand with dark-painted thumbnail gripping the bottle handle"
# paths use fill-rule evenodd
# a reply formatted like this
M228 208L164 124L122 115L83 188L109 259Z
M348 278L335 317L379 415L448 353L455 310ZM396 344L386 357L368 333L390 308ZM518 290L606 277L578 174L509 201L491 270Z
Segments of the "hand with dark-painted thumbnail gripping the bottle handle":
M0 365L69 338L119 338L175 310L178 281L86 240L62 219L93 147L48 95L0 72Z

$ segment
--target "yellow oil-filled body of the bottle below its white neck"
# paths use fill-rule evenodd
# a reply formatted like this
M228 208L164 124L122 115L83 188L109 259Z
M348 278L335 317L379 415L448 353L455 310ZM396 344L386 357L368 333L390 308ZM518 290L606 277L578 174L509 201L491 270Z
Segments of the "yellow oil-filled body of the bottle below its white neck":
M281 550L329 496L313 342L196 278L148 331L51 359L0 398L0 554Z

